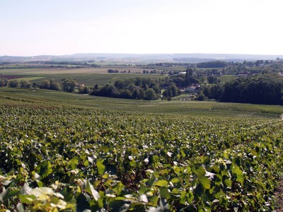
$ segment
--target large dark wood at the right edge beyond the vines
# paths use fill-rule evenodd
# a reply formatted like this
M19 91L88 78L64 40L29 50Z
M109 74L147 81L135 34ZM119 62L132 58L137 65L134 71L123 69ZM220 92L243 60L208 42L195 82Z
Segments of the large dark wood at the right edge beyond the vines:
M282 105L283 78L268 74L236 78L224 84L206 87L203 93L207 98L221 102Z

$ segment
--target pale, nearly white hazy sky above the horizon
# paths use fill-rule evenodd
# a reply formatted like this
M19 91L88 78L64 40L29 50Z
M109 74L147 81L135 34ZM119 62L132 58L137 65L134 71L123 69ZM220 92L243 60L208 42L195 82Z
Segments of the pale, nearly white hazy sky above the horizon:
M283 54L282 0L0 0L0 55Z

